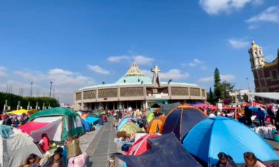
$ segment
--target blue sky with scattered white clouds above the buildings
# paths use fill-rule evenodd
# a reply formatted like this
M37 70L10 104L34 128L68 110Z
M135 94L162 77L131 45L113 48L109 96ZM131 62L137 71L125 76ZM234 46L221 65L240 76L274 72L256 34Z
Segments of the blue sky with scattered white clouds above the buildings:
M71 103L77 88L114 83L135 61L164 80L213 85L218 67L236 88L254 89L251 39L273 61L279 47L278 0L1 1L0 91Z

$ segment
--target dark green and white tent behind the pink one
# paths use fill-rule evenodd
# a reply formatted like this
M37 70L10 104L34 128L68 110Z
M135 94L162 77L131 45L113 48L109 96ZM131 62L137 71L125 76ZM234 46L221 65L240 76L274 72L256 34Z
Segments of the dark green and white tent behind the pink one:
M56 107L35 113L29 118L28 121L54 122L56 120L60 120L59 127L56 131L56 136L60 136L58 141L66 141L70 136L84 133L80 115L74 111L71 111L70 109L65 109L62 107Z

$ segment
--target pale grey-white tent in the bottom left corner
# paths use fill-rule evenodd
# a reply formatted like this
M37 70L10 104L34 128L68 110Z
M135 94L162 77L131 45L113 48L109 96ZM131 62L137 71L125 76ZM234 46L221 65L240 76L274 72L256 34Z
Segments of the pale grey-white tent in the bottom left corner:
M38 146L33 143L33 139L20 132L15 128L6 125L0 125L0 129L9 129L10 134L8 138L0 136L0 166L20 166L24 164L25 159L29 154L37 154L41 157L43 154L40 152Z

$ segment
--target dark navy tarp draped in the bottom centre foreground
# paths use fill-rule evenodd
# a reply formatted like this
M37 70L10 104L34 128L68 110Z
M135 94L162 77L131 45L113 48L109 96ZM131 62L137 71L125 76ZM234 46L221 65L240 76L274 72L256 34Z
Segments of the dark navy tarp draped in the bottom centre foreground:
M158 136L148 140L151 150L139 156L116 154L116 157L133 167L169 167L191 166L202 167L195 158L189 154L177 140L173 133Z

